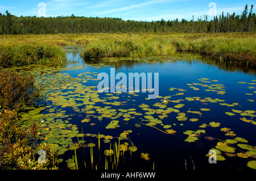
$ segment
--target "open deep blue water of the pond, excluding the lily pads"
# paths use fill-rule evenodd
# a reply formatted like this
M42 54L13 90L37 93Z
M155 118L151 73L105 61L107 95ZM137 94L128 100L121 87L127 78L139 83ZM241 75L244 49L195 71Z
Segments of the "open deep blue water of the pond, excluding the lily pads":
M131 60L126 58L126 60L121 59L108 59L104 61L89 61L84 62L79 57L79 54L67 53L68 59L73 60L69 63L68 66L71 69L68 70L60 70L58 73L60 74L68 74L69 77L73 78L81 78L78 76L81 73L91 72L93 78L97 78L97 74L101 72L108 73L110 75L110 68L115 68L115 74L117 73L125 73L128 75L129 73L159 73L159 96L171 96L168 98L169 100L180 100L179 102L170 102L166 104L166 107L156 107L153 106L155 103L159 103L164 105L162 102L162 97L156 99L147 100L148 92L136 92L138 96L134 96L128 94L126 92L122 92L121 94L116 94L109 92L109 94L113 94L112 96L117 96L118 99L108 99L108 102L118 101L121 102L121 105L114 106L112 104L104 104L102 102L96 102L93 106L105 107L110 106L110 109L125 109L129 110L131 108L135 108L135 112L142 113L142 115L133 115L131 114L132 119L125 121L123 120L123 116L119 116L115 119L111 119L111 117L103 117L102 120L98 119L98 115L100 115L96 109L92 109L95 112L91 113L90 121L88 123L81 123L82 119L85 119L88 116L85 111L81 111L85 108L85 105L79 106L80 112L76 112L77 108L72 106L61 108L60 106L55 106L65 111L65 115L72 115L72 119L69 120L69 124L77 125L77 130L79 133L83 131L84 134L104 134L113 136L113 143L118 143L118 136L123 131L131 130L132 132L128 134L129 140L121 140L120 144L123 142L127 142L129 146L131 146L131 141L135 146L137 146L137 151L133 152L130 155L130 150L125 151L125 156L120 157L120 163L118 169L152 169L153 164L155 169L158 170L166 170L166 169L177 169L177 170L201 170L201 169L250 169L247 167L247 162L255 160L253 157L241 158L237 155L234 157L229 157L225 154L225 151L221 151L221 156L225 158L225 161L218 161L217 163L210 164L208 161L209 150L215 148L218 142L225 141L226 139L234 140L234 138L240 137L244 138L247 142L238 141L236 144L230 144L233 148L236 148L234 153L246 153L246 149L240 148L237 144L247 144L251 146L251 150L255 151L255 128L256 125L253 124L256 121L255 113L251 113L249 115L241 115L240 113L234 112L233 110L240 110L245 112L246 110L256 111L256 81L255 81L255 73L243 73L240 70L225 70L221 69L218 66L203 64L202 62L188 62L188 61L174 61L174 60L160 60L160 58L154 58L154 61L147 62L149 59L144 60ZM117 62L118 60L118 62ZM95 64L96 63L96 64ZM76 69L73 69L77 67ZM96 74L97 73L97 74ZM53 73L54 74L54 73ZM85 74L87 75L87 74ZM203 79L201 79L203 78ZM119 80L116 80L118 82ZM202 82L203 81L203 82ZM205 82L206 81L206 82ZM88 80L86 83L81 83L86 86L97 86L98 82L95 79ZM246 82L246 83L238 83L238 82ZM189 84L189 85L187 85ZM217 84L217 85L216 85ZM205 85L212 85L212 88L217 89L209 89L209 87ZM194 90L192 87L198 88L198 90ZM154 86L153 86L154 87ZM176 89L170 90L171 87ZM185 90L185 91L180 91ZM93 90L97 91L97 87L93 88ZM217 91L205 91L205 90L217 90ZM62 90L58 90L61 92ZM68 92L72 90L63 90L62 92ZM224 91L219 93L218 91ZM184 93L177 95L177 93ZM106 95L108 93L97 93L100 99L105 99L110 97ZM249 95L247 95L249 94ZM60 94L61 95L61 94ZM192 97L200 97L198 100L188 101L186 98ZM74 97L75 98L75 97ZM211 99L220 99L222 102L204 102L204 100L209 100L205 98ZM71 99L69 97L69 99ZM202 101L200 101L202 100ZM76 103L82 103L82 100L76 100ZM155 128L149 127L144 116L147 116L142 108L138 107L141 104L147 104L149 108L152 110L167 110L168 108L175 108L177 104L184 104L181 108L175 108L179 110L181 113L185 113L185 117L187 120L179 121L177 120L178 112L168 113L167 117L163 119L159 119L160 113L154 113L154 118L158 118L158 120L162 121L161 124L154 125ZM228 104L221 105L221 104ZM236 103L236 104L233 104ZM44 102L46 105L51 105L51 101L47 100ZM230 106L230 105L234 106ZM208 108L209 111L201 111L200 108ZM232 110L233 109L233 110ZM46 108L42 113L48 113L49 108ZM187 111L200 111L200 115L198 113L191 113ZM119 112L119 111L117 111ZM225 112L234 113L233 116L227 115ZM245 117L248 122L242 121L241 118ZM190 121L189 119L198 119L197 121ZM56 119L55 119L56 120ZM63 119L63 120L66 120ZM115 129L106 129L106 126L112 120L118 120L119 127ZM211 122L219 123L218 127L212 127L209 125ZM90 124L95 125L90 125ZM143 123L143 124L141 124ZM141 124L141 127L135 127L135 124ZM207 124L206 128L200 128L199 126L202 124ZM164 125L171 125L170 128L164 128ZM221 128L230 128L236 136L227 136L226 132L221 131ZM174 134L165 134L161 131L166 131L167 129L173 129L176 131ZM188 137L187 134L184 134L185 131L197 131L203 129L205 133L201 133L197 135L198 140L195 142L187 142L185 141ZM49 129L51 130L51 129ZM210 136L216 138L215 140L207 140L205 136ZM116 138L115 138L116 137ZM58 138L56 138L57 140ZM82 139L81 137L79 138ZM91 136L84 136L85 144L89 144L93 142L96 144L94 146L94 167L98 162L97 169L105 169L105 155L104 150L110 149L110 143L104 143L104 138L101 138L101 159L98 162L99 153L98 153L98 138ZM46 140L47 141L47 140ZM72 138L73 142L77 142L77 137ZM129 147L128 146L128 147ZM77 158L79 162L79 166L81 169L84 169L84 161L86 162L87 169L90 168L90 153L89 148L80 148L76 150ZM150 159L148 161L141 158L141 153L150 154ZM64 154L60 155L60 158L63 158L64 161L60 163L61 169L67 169L67 163L65 160L72 158L74 155L74 150L67 150ZM112 157L113 159L113 157ZM109 157L109 166L108 169L112 169ZM187 163L187 165L185 165Z

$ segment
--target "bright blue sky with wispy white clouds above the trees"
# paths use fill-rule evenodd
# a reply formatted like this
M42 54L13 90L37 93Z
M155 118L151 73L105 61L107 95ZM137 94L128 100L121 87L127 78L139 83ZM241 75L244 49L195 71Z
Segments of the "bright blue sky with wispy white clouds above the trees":
M251 5L254 5L254 9L256 9L255 0L1 0L0 12L3 14L8 10L16 16L41 16L39 11L43 6L38 7L40 2L46 5L46 17L74 14L76 16L114 17L142 21L155 21L162 18L164 20L176 18L191 20L193 15L195 20L200 16L203 19L204 15L207 15L208 19L212 19L213 9L216 9L217 15L222 14L222 11L224 14L236 12L240 15L246 3L249 6L249 11ZM211 2L214 4L210 4Z

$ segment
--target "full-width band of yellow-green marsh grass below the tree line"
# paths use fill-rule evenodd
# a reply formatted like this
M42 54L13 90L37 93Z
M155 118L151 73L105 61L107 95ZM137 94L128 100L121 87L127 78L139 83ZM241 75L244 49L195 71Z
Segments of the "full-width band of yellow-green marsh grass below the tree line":
M85 58L175 56L189 51L215 61L256 66L256 33L77 33L0 36L0 44L83 46Z

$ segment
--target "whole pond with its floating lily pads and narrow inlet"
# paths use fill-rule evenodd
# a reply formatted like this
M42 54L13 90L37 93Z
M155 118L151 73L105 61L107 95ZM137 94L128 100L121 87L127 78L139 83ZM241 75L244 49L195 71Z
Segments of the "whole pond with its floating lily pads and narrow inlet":
M255 167L255 72L159 57L85 62L73 50L67 57L65 67L16 68L43 89L38 106L20 116L38 123L39 141L54 144L60 169L74 169L75 157L88 170ZM148 99L148 87L99 92L98 74L111 68L127 77L158 73L158 97Z

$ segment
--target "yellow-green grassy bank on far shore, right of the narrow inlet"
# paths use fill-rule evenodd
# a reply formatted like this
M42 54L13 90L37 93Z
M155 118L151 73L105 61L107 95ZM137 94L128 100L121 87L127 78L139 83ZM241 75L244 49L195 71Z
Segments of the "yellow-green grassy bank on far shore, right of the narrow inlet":
M242 67L256 67L255 35L116 35L89 43L84 58L175 56L189 51Z

